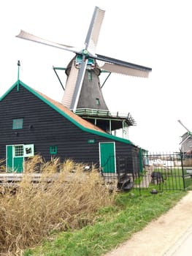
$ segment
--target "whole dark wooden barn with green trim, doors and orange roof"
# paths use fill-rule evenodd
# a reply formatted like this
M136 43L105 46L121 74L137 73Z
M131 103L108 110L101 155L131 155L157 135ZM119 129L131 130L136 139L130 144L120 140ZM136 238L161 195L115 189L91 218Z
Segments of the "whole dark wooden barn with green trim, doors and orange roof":
M7 172L25 172L35 154L96 165L104 173L139 171L140 148L74 114L18 80L0 99L0 159Z

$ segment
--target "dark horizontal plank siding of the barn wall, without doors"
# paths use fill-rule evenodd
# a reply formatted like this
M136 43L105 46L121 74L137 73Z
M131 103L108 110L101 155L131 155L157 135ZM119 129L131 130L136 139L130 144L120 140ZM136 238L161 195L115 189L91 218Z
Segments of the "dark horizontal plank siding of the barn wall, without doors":
M16 86L1 100L0 114L0 159L6 157L6 145L34 144L35 153L46 160L51 157L50 146L57 146L55 157L62 161L69 158L99 165L99 142L113 141L82 131L23 86L19 91ZM15 118L23 118L23 129L12 129ZM131 157L136 149L120 141L115 145L116 157Z

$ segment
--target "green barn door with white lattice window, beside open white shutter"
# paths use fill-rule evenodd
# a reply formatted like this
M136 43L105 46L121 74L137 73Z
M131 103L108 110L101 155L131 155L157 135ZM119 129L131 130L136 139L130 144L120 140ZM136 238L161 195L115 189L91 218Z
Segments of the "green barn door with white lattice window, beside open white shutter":
M23 173L23 145L6 146L7 172Z

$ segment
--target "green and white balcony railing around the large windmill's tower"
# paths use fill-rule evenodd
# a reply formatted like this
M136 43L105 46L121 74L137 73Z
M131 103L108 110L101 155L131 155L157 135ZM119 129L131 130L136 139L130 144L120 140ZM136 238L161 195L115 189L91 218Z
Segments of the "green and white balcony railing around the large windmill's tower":
M100 110L100 109L93 109L93 108L77 108L75 113L78 116L109 116L109 117L120 117L120 118L130 118L130 114L123 114L123 113L112 113L109 110Z

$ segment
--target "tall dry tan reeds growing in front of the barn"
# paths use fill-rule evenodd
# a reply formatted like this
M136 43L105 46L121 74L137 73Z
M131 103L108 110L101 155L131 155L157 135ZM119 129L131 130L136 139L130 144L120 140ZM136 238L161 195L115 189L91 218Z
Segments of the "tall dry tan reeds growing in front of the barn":
M34 184L31 173L37 165L42 176ZM95 168L85 172L85 165L71 160L43 162L42 157L34 157L26 163L15 195L12 188L0 195L1 255L20 255L22 249L39 244L54 230L93 223L93 213L111 205L113 199Z

